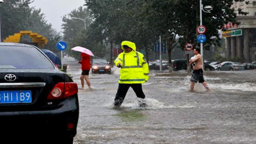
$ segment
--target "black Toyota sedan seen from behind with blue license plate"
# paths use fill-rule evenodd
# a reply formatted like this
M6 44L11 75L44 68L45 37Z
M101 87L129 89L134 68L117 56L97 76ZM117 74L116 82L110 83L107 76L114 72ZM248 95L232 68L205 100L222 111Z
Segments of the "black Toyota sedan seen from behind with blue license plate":
M51 137L51 142L73 143L79 116L77 93L77 83L39 48L0 43L0 132L13 136L10 140L24 135L20 143L35 137L43 137L40 142Z

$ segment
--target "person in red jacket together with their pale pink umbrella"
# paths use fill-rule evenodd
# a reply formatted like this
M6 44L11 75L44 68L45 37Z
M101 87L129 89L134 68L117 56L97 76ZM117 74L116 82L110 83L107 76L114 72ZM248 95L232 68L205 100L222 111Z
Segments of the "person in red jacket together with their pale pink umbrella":
M84 83L85 83L84 79L85 79L88 87L91 88L91 84L90 84L90 80L89 80L89 71L91 68L90 56L94 57L93 53L90 50L88 50L87 48L83 48L80 46L71 48L71 50L82 52L82 54L81 54L82 60L79 60L79 62L78 62L82 65L82 73L80 76L80 80L81 80L81 84L82 84L81 89L82 90L84 89Z

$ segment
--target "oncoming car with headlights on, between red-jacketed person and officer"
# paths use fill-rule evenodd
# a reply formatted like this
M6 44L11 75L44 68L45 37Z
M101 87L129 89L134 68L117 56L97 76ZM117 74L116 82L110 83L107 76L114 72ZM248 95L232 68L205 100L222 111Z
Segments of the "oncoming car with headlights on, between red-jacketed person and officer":
M111 73L109 62L105 59L94 59L92 64L92 73Z

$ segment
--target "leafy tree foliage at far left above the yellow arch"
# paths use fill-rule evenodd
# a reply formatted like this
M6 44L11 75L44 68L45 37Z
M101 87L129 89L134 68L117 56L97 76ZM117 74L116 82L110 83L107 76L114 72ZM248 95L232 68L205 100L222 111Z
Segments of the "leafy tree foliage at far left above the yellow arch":
M40 9L29 7L32 0L8 0L1 4L1 40L20 31L32 31L43 35L49 41L43 48L56 51L60 33L51 28Z

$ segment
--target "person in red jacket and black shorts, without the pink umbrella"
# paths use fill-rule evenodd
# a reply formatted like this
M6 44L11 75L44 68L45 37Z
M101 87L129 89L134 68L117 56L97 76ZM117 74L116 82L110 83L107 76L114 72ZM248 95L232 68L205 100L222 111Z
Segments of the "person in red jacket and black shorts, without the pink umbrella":
M84 89L84 79L88 85L89 88L91 88L91 84L89 81L89 71L91 68L91 63L90 63L90 56L88 54L82 53L81 54L82 61L79 61L80 64L82 64L82 74L80 76L82 88Z

